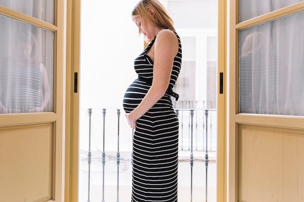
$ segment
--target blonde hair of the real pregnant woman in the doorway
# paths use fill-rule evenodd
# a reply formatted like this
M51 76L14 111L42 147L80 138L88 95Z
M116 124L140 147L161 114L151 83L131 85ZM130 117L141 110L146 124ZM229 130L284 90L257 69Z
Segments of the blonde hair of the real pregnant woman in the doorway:
M149 9L154 10L154 17L149 12ZM140 16L141 20L144 17L156 27L169 28L175 31L172 18L158 0L140 0L133 9L132 16Z

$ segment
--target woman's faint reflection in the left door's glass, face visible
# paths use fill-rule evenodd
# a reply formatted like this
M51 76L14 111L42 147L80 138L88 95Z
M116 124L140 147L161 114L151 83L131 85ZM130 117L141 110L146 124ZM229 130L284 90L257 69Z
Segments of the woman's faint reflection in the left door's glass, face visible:
M17 31L13 50L0 66L0 112L42 112L51 99L51 90L45 66L38 61L34 35Z

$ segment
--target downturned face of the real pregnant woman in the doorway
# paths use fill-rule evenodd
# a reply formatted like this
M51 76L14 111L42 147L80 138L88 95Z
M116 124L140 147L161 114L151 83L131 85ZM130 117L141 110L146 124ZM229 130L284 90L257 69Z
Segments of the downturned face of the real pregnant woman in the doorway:
M143 20L141 20L140 16L133 17L133 21L138 27L138 33L142 33L146 39L152 40L156 36L156 27L149 23L144 17Z

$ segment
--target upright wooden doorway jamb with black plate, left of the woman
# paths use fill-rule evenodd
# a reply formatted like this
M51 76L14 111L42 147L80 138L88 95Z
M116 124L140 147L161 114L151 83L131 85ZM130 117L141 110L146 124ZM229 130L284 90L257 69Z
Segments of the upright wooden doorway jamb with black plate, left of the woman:
M81 0L67 0L65 202L78 202L80 22Z

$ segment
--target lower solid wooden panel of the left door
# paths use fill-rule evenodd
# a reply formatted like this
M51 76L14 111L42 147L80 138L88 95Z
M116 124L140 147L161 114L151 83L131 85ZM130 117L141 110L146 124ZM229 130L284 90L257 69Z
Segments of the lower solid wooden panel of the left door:
M0 201L52 199L53 124L2 127ZM18 194L16 194L16 190Z

